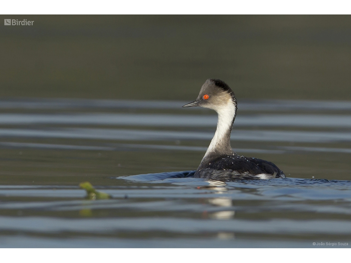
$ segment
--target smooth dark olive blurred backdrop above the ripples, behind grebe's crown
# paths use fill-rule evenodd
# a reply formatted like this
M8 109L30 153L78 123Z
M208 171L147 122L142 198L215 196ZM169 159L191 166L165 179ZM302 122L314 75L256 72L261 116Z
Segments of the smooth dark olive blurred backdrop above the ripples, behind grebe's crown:
M7 15L2 97L351 99L348 15ZM2 20L1 20L2 21Z

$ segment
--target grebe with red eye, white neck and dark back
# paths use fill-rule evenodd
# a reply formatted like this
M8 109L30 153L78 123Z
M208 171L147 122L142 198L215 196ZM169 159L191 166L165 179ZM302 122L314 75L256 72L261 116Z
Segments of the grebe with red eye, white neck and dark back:
M218 114L217 129L194 177L218 181L285 178L274 163L239 156L230 146L230 134L237 112L233 90L222 80L208 79L197 99L183 107L204 107Z

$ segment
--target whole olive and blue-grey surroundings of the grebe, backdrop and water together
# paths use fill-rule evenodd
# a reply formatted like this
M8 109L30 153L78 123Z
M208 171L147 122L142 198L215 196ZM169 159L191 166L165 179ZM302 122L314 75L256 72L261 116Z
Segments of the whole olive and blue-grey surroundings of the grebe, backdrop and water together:
M350 15L0 16L34 21L0 26L0 247L350 241ZM289 178L159 174L204 156L217 115L181 106L208 78L234 151Z

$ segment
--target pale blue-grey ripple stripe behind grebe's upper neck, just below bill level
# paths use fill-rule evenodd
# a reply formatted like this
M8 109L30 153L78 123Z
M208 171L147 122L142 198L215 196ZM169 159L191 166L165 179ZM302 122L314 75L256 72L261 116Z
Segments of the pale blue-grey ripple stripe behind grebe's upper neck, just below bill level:
M0 125L74 124L74 125L132 125L173 127L216 127L215 115L179 114L0 114ZM294 126L294 127L351 127L349 115L257 114L239 115L235 126Z

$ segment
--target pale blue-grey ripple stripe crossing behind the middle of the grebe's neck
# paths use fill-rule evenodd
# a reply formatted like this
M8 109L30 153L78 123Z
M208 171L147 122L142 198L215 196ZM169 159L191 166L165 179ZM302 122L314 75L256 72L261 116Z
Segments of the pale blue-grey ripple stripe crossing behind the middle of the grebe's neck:
M0 128L2 137L36 137L99 140L211 140L213 132L205 131L160 131L99 128L53 128L53 129L5 129ZM351 132L336 131L276 131L234 129L232 141L270 142L342 142L351 141Z

